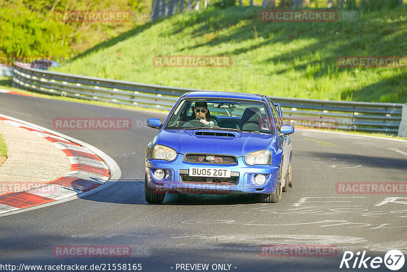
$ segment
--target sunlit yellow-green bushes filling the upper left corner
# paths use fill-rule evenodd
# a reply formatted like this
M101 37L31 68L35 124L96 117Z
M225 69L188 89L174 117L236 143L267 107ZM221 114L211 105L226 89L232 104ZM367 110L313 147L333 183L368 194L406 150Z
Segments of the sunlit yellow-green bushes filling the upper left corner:
M149 21L151 0L1 1L0 55L69 59L94 45ZM55 12L130 11L130 22L61 21Z

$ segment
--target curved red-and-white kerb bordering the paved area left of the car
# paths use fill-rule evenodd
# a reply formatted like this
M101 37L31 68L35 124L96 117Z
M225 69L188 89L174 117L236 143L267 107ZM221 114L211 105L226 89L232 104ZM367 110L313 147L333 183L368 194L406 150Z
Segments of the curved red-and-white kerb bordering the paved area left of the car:
M110 177L105 162L94 152L50 132L0 116L0 120L21 127L53 143L65 153L71 171L52 182L0 196L0 214L71 197L94 189Z

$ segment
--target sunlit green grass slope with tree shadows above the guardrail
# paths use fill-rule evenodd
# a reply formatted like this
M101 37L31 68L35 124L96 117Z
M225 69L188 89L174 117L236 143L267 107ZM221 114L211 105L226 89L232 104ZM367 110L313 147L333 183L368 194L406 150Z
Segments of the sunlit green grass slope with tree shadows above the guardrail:
M261 22L261 7L209 8L136 27L55 71L176 87L323 100L407 101L406 68L338 68L337 56L405 56L407 9L357 22ZM222 68L155 67L157 55L228 55ZM247 64L248 62L248 64Z

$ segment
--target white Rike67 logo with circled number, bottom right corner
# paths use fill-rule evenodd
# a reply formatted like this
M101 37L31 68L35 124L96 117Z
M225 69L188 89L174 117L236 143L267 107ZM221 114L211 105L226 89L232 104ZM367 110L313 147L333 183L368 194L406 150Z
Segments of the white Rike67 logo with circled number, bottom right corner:
M345 251L339 268L379 268L386 265L390 270L396 271L404 265L404 255L398 250L391 250L386 253L385 258L382 257L365 257L366 251L362 253L358 251L354 254L352 251ZM354 258L355 257L355 258Z

